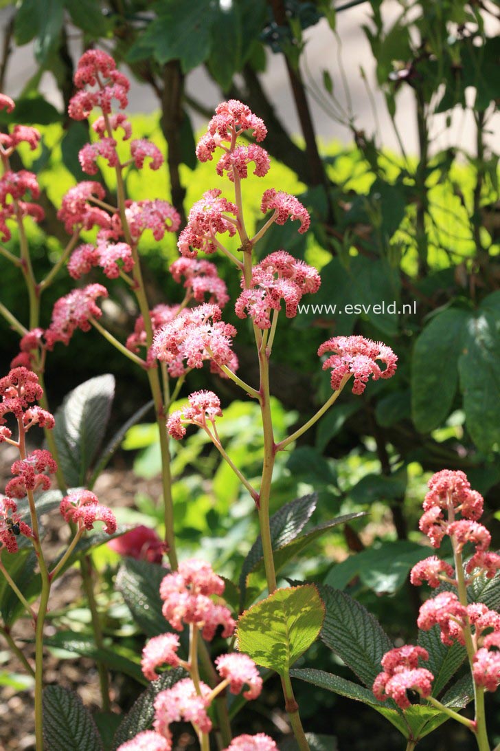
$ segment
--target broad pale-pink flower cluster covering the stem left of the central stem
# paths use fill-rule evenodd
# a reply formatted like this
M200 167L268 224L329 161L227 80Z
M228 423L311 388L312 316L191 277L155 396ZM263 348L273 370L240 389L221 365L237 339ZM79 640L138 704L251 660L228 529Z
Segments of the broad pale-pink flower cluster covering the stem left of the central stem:
M236 329L221 318L220 307L209 303L187 310L157 330L152 354L167 364L173 377L184 375L189 368L201 368L205 360L211 360L212 372L220 373L220 366L234 371L238 367L232 351Z

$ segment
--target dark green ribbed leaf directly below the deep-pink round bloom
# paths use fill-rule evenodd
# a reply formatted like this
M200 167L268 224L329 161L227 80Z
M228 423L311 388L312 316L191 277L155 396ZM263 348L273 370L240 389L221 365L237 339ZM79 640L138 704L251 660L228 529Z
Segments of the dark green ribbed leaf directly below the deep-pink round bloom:
M170 630L161 612L160 584L165 575L165 569L157 563L127 558L116 577L116 588L130 608L133 620L148 636Z

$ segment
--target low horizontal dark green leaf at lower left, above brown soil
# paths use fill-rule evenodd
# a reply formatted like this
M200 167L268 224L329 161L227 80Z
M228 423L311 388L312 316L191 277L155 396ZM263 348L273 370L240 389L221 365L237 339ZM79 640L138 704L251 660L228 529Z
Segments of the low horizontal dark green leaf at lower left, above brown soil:
M137 662L134 662L130 656L124 654L127 650L121 649L118 644L113 644L112 647L106 645L96 647L90 636L75 634L72 631L60 631L53 636L47 636L44 644L47 647L55 647L55 649L72 652L82 657L91 657L96 662L103 662L112 670L130 675L137 683L147 683L139 665L139 656L133 655L134 659L137 657Z

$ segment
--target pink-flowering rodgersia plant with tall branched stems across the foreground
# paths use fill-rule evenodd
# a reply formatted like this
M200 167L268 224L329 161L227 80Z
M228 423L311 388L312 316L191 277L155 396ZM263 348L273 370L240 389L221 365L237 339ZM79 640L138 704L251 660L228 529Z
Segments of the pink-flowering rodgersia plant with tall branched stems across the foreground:
M469 602L467 588L472 589L474 582L484 576L493 581L498 576L500 559L496 553L489 552L489 533L478 523L482 511L481 496L470 489L463 475L444 471L433 478L421 520L421 530L430 537L435 547L439 547L445 535L451 538L454 566L432 556L415 566L412 581L414 584L427 581L431 587L442 587L436 598L422 606L418 625L424 632L439 626L442 642L447 647L455 641L465 645L475 681L474 721L458 714L458 705L434 697L433 672L419 664L420 660L426 662L427 656L430 657L428 664L432 662L433 655L426 647L418 644L415 647L388 649L390 641L385 635L381 636L381 629L373 625L374 620L364 608L345 593L330 587L306 582L277 588L280 567L307 544L307 535L302 538L298 535L314 508L314 501L306 496L287 504L286 508L279 509L270 517L277 454L289 448L316 424L348 384L352 394L358 397L364 394L370 377L373 380L391 378L396 371L397 357L388 345L373 342L364 336L334 336L325 341L319 347L318 354L322 358L322 368L331 372L332 393L304 425L289 436L277 439L271 412L269 375L274 340L279 335L283 319L297 315L301 298L316 293L321 279L314 267L294 258L284 249L277 249L264 258L258 255L259 241L272 225L297 222L300 233L309 228L309 214L295 196L279 189L265 190L260 203L264 216L262 227L253 235L249 232L245 180L249 179L250 174L256 178L264 176L271 167L270 158L260 145L266 136L264 122L239 101L230 100L217 107L208 124L208 131L199 140L196 155L200 161L214 161L217 175L227 180L228 191L211 189L205 192L191 208L187 226L178 235L181 256L172 264L170 271L183 290L181 303L167 301L151 306L142 279L141 239L145 232L151 232L154 240L160 242L167 232L180 229L180 219L167 201L158 198L130 200L126 194L124 176L127 170L158 169L163 156L154 144L133 138L132 125L123 111L127 107L129 83L124 74L116 69L109 55L89 50L80 59L74 80L79 90L70 102L70 116L79 120L96 116L91 123L93 140L79 152L82 170L89 176L94 176L99 170L106 175L108 170L112 170L116 181L116 199L109 198L103 185L91 179L67 192L58 216L70 234L70 241L61 260L40 283L34 280L23 233L25 217L37 219L40 216L37 209L25 201L26 192L31 192L34 198L37 196L36 178L25 171L11 174L7 161L10 149L16 148L19 140L36 146L38 136L33 129L23 131L16 126L11 134L3 137L1 145L6 169L0 179L1 228L4 228L7 237L7 223L16 222L20 255L17 258L6 249L1 249L1 252L19 267L25 277L30 319L28 327L24 327L7 310L0 308L0 312L22 337L20 354L13 363L16 367L7 376L7 381L4 379L7 385L2 387L4 412L0 412L1 418L4 413L13 412L19 436L13 437L2 422L0 441L19 448L19 462L13 465L13 478L7 484L6 499L2 501L0 540L3 548L9 552L15 549L18 538L27 538L33 544L43 581L36 611L16 587L5 567L1 570L36 623L34 674L37 749L43 747L43 620L50 584L70 562L71 554L86 529L91 529L96 521L100 521L104 532L111 534L115 532L115 520L112 512L100 505L91 490L81 487L65 492L64 477L61 478L60 469L56 469L57 447L53 441L50 442L49 431L54 423L52 415L46 403L40 403L40 407L33 403L43 399L39 381L47 354L58 343L70 345L77 329L88 331L94 328L145 372L160 430L163 541L154 531L137 528L117 538L112 546L121 554L148 561L151 566L160 563L166 551L170 567L160 585L160 598L163 616L171 630L155 635L145 644L142 672L153 686L160 685L165 676L167 679L172 676L171 685L157 692L154 698L152 729L151 723L140 728L137 734L135 726L133 732L128 728L126 737L120 740L121 751L169 751L172 748L172 725L179 721L192 723L202 751L208 751L211 732L219 748L226 751L276 749L275 741L266 734L244 732L232 738L227 692L242 693L243 698L249 701L257 698L262 689L262 674L258 667L269 668L279 674L286 712L301 751L310 749L310 743L302 726L292 677L310 680L376 707L381 707L387 699L391 703L388 707L383 705L388 713L386 716L390 716L395 725L403 717L400 729L402 726L409 728L405 736L409 748L415 746L421 737L418 733L413 734L412 711L415 715L415 710L412 710L413 705L410 706L407 694L409 689L414 689L420 693L422 701L432 704L432 712L436 713L434 718L442 713L463 722L476 734L481 751L484 751L488 746L482 697L484 689L493 690L499 683L496 653L500 641L499 616L484 603ZM13 106L7 98L0 100L0 104L9 108ZM255 143L241 143L239 139L244 133L247 136L250 133ZM87 237L85 242L80 242L80 234L84 231L93 231L94 239L88 240ZM233 350L233 340L238 332L232 323L224 319L226 313L223 312L229 306L226 285L218 276L213 259L201 258L201 253L214 258L222 253L239 276L241 291L234 301L235 315L241 319L242 325L251 327L253 331L259 364L256 383L247 382L238 372L238 358ZM55 273L62 270L66 261L68 273L79 281L79 286L55 303L51 321L43 330L40 327L40 294L52 282ZM136 298L139 315L124 342L106 328L106 317L99 303L108 297L109 290L101 281L88 283L85 276L90 272L102 273L102 282L106 282L106 279L123 282ZM263 446L259 482L244 475L220 437L217 425L224 420L224 416L220 398L215 393L216 386L213 387L215 391L194 391L189 394L184 406L172 410L172 403L189 379L190 371L202 369L205 363L215 375L231 379L259 406ZM23 395L19 389L25 390ZM19 400L22 406L19 406ZM34 424L46 430L48 445L54 456L44 450L38 453L34 451L29 457L22 453L25 452L25 431ZM244 562L238 588L234 585L226 588L226 583L208 563L198 559L178 560L169 441L184 439L190 426L205 431L253 499L259 518L260 535ZM45 490L49 484L47 472L56 471L61 490L64 490L60 511L70 524L73 537L67 550L49 570L40 545L34 493ZM27 498L28 515L21 514L16 508L17 499L20 499L20 503L24 502L23 496ZM459 513L460 518L457 517ZM323 529L357 515L339 517L324 528L316 528L313 533L317 536ZM466 562L464 569L462 550L469 543L475 545L476 552ZM297 547L294 547L295 544ZM260 586L262 581L265 584ZM255 602L266 586L267 596ZM232 596L231 589L235 590ZM228 590L225 600L223 596ZM239 608L235 605L238 599ZM338 631L341 627L338 624L343 621L343 615L339 617L340 611L342 614L349 612L356 627L351 628L344 641L337 638L339 634L334 630L334 624L337 623ZM376 651L375 670L379 671L380 664L383 668L379 677L373 674L373 665L365 668L361 664L363 660L366 661L364 641L363 649L360 647L359 650L362 655L359 662L359 654L356 653L358 626L361 633L359 641L363 641L367 635L363 629L373 629L374 639L378 638L379 646L384 646L383 650ZM184 629L189 631L187 652L184 651L182 638ZM212 660L211 642L216 635L223 639L231 638L232 641L227 644L225 653ZM364 691L358 684L350 684L346 680L340 683L337 676L318 675L321 671L292 670L296 660L318 635L328 647L339 653L346 665L358 673L366 686ZM7 636L10 638L10 635ZM343 644L349 648L344 649ZM22 659L22 653L12 639L11 646ZM31 670L28 661L24 659L24 662L26 668ZM452 675L453 672L449 677ZM106 685L101 686L106 694Z

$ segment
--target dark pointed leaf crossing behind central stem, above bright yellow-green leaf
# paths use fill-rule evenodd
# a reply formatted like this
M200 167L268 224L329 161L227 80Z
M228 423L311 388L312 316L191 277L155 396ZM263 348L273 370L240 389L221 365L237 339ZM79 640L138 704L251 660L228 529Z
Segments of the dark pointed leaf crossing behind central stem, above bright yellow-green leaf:
M269 526L271 528L273 550L277 550L278 547L283 547L283 545L295 539L299 532L304 529L304 526L310 520L311 514L313 514L316 508L317 499L317 493L310 493L308 496L295 498L295 500L286 503L271 516ZM241 567L239 581L241 605L246 601L247 575L259 565L263 557L262 538L259 535L250 548L250 552L247 554Z

